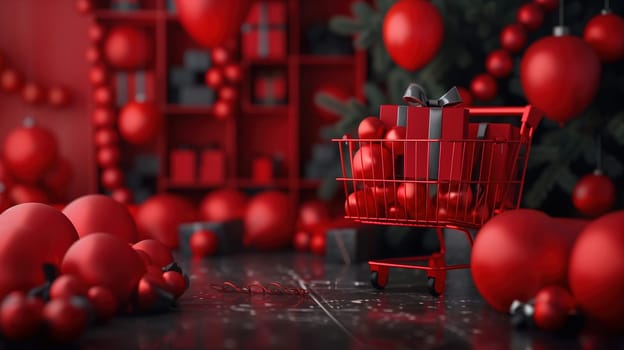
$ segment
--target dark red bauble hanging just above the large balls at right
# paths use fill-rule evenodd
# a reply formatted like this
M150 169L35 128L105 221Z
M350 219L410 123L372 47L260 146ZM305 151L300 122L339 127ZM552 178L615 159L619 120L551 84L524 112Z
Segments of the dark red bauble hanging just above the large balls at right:
M608 176L585 175L574 186L572 203L582 214L598 216L613 208L615 193L615 184Z

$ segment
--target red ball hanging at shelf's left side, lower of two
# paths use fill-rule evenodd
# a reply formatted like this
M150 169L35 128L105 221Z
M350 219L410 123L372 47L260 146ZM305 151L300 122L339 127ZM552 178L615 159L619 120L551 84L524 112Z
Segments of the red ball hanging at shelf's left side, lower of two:
M151 102L130 102L119 113L119 133L135 145L152 142L158 136L163 118Z

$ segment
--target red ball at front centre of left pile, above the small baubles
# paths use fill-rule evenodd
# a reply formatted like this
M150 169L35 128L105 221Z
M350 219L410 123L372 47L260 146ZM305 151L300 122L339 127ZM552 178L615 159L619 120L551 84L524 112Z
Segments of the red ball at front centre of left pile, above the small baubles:
M80 278L89 287L109 289L125 304L145 273L145 265L126 240L109 233L92 233L69 248L61 271Z

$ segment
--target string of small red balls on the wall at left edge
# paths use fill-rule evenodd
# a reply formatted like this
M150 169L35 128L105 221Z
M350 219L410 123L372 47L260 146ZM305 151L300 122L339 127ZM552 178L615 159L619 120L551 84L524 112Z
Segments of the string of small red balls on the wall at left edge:
M1 53L0 90L8 94L18 93L30 105L47 103L54 108L62 108L71 101L71 94L66 87L52 86L46 89L36 82L24 82L24 77L17 70L6 65L6 58Z

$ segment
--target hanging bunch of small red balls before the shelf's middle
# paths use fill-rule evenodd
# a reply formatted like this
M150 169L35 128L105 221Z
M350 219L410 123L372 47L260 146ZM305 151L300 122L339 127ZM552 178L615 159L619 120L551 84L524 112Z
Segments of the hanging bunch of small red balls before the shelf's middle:
M237 85L243 78L243 71L239 64L231 62L231 53L224 47L212 49L211 58L213 67L206 71L204 80L206 85L217 92L217 101L213 107L215 117L225 120L231 118L236 110L236 101L239 99Z

